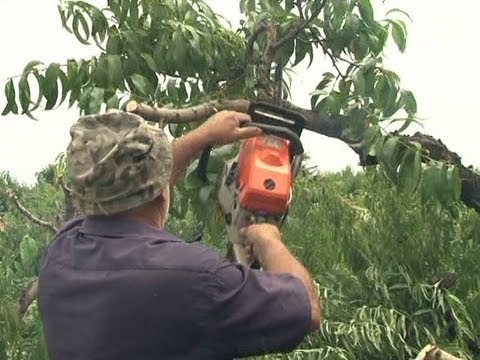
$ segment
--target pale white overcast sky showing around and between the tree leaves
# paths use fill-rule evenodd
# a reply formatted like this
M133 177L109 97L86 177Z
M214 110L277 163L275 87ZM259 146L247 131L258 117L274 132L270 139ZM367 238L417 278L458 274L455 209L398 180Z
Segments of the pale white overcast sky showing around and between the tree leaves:
M106 1L96 1L106 3ZM236 23L239 11L235 1L211 0L214 9ZM380 3L380 2L379 2ZM30 60L65 63L68 58L97 53L61 29L54 0L1 0L0 34L0 111L5 106L5 80L18 75ZM413 18L408 26L407 50L400 54L391 46L386 64L396 71L402 86L417 97L419 116L425 133L441 138L462 156L464 164L480 165L476 137L480 130L478 102L479 50L478 14L480 1L473 0L390 0L386 8L376 7L377 19L385 9L400 7ZM293 102L308 107L309 93L319 74L329 68L319 57L309 70L297 69L292 85ZM31 183L34 175L64 150L68 130L77 119L75 109L37 112L40 121L25 116L0 117L0 170L10 171L18 180ZM317 134L303 136L312 164L322 171L355 166L357 156L345 144Z

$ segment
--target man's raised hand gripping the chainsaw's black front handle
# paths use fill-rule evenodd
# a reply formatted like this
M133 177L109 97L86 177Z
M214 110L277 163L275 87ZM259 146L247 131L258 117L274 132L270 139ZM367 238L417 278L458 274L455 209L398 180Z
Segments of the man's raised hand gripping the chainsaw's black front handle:
M262 135L257 127L240 125L251 122L248 114L236 111L220 111L205 121L197 131L209 145L225 145L237 140Z

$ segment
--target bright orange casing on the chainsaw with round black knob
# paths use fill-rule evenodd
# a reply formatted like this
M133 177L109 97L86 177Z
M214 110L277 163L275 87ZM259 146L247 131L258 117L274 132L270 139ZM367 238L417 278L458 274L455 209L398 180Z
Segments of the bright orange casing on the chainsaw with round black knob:
M238 155L238 200L255 213L283 215L292 181L288 140L264 135L246 140Z

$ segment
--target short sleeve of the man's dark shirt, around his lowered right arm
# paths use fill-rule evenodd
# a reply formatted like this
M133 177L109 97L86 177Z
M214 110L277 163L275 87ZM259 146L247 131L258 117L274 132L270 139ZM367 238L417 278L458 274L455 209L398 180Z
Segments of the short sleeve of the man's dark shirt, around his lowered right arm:
M226 264L215 280L207 331L220 353L288 351L308 332L310 300L297 277Z

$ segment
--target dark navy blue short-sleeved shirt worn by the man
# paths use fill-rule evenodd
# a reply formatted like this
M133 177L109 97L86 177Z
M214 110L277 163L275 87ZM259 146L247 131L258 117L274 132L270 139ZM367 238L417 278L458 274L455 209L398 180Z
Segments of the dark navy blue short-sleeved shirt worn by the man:
M39 307L56 359L231 359L294 348L310 302L289 274L251 270L125 218L64 225Z

